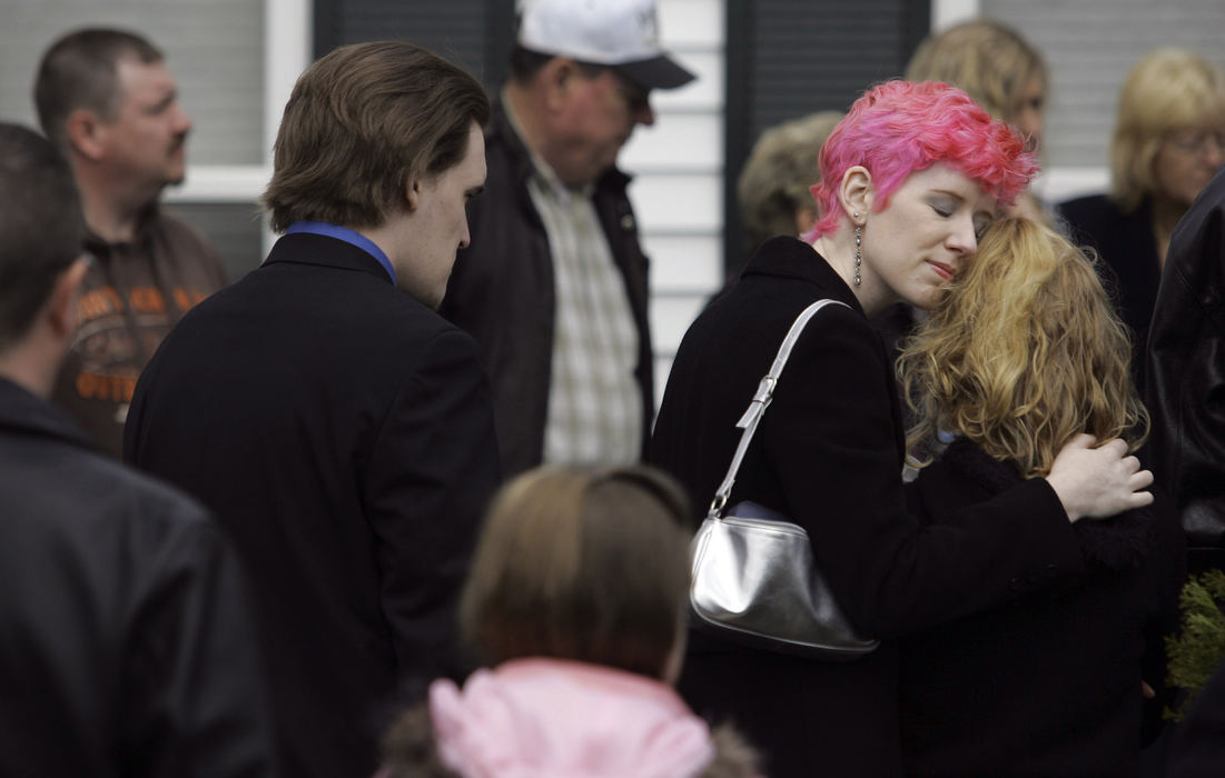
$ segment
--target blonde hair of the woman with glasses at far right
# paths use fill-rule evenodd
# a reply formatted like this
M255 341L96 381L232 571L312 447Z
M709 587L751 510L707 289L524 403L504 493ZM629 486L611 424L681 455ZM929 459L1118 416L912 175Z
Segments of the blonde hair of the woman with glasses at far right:
M1118 94L1110 142L1110 197L1125 213L1158 188L1161 143L1182 130L1225 128L1225 75L1194 51L1166 46L1145 54Z

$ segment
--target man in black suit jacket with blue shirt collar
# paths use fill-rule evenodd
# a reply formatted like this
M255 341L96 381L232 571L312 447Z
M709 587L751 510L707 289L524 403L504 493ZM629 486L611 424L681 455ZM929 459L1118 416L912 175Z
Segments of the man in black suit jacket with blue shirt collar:
M288 774L369 776L397 685L456 674L454 606L499 480L475 341L439 317L489 102L405 43L299 78L265 192L285 235L142 374L125 456L245 563Z

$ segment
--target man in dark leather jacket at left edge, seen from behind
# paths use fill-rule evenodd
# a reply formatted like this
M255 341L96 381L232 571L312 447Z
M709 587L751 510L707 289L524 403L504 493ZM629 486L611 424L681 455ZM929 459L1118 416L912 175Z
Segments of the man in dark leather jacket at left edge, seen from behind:
M47 401L83 237L67 161L0 124L0 776L271 776L233 552Z

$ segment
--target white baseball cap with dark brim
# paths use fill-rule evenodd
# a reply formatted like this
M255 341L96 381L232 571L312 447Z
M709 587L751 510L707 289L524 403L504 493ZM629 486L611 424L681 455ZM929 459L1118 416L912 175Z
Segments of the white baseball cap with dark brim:
M655 0L521 0L518 43L615 67L647 89L674 89L695 78L659 46Z

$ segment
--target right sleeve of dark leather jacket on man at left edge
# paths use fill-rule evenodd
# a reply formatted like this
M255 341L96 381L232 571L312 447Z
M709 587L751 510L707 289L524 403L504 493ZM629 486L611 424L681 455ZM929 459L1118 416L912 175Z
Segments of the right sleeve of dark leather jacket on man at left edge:
M168 526L159 548L134 549L121 736L141 767L130 774L272 776L262 665L238 560L209 520Z

